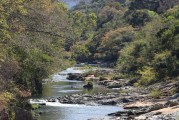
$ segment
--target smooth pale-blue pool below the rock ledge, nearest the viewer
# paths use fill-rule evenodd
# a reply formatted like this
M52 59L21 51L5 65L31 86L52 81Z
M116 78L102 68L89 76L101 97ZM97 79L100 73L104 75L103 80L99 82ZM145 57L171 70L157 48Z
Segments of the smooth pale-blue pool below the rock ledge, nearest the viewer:
M43 109L41 120L88 120L102 118L105 115L120 110L115 106L47 106Z

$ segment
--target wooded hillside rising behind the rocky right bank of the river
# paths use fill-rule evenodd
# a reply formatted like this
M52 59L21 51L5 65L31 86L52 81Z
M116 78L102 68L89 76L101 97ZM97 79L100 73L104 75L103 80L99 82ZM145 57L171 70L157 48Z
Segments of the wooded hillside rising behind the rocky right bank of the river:
M177 80L177 4L175 0L93 0L83 8L76 6L74 11L93 12L97 20L91 38L77 43L81 46L73 50L74 58L111 64L124 76L137 78L136 85Z

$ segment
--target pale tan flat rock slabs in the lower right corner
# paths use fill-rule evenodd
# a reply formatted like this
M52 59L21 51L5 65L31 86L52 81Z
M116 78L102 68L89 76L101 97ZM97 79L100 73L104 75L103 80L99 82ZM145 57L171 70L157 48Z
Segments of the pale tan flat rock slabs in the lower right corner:
M126 118L132 120L172 120L173 114L179 111L178 105L178 99L158 102L134 102L124 105L124 111L111 113L109 116L118 116L120 119Z

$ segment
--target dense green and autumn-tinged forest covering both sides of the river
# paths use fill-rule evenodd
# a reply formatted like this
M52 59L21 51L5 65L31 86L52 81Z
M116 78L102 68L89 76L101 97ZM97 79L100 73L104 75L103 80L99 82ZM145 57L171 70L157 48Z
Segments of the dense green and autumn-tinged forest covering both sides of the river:
M0 1L0 111L17 119L42 79L75 62L107 63L135 85L178 80L177 0ZM5 119L5 118L4 118Z

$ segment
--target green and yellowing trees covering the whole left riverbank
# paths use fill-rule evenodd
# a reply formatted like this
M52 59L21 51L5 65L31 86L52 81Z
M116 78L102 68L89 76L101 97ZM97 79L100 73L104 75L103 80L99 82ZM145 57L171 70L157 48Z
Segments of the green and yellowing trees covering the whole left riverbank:
M60 2L1 0L0 13L0 106L13 111L42 92L42 79L74 63L64 43L76 34Z

